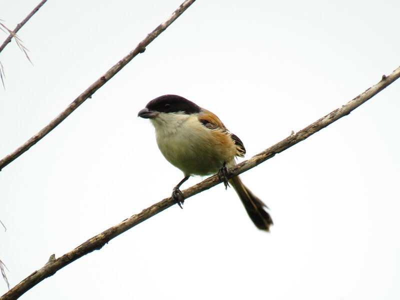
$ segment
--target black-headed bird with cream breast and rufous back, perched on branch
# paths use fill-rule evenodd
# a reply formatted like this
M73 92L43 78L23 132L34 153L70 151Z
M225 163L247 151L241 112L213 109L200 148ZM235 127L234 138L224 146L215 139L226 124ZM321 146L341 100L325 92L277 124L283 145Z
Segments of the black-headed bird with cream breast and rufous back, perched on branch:
M244 157L246 150L214 113L182 96L166 94L149 101L137 116L150 120L162 155L183 172L184 178L171 194L180 208L184 196L179 187L184 181L190 176L218 174L225 189L230 184L236 191L254 225L269 231L273 222L265 203L239 176L228 179L228 168L236 164L236 156Z

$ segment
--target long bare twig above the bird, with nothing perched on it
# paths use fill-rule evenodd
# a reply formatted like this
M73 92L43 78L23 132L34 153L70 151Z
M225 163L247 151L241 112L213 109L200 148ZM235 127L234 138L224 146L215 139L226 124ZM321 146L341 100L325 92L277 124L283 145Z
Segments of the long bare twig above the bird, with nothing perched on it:
M120 69L122 69L133 57L139 53L143 53L145 47L153 41L162 31L164 31L179 15L183 13L195 0L185 0L179 7L165 20L159 24L153 31L147 34L147 36L139 42L139 44L130 51L125 57L114 64L104 75L94 81L85 91L83 91L75 100L73 100L60 114L58 114L51 122L43 127L39 132L29 138L23 145L18 147L16 150L5 156L0 160L0 170L10 163L12 160L17 158L23 152L28 150L41 138L43 138L48 132L55 128L60 122L62 122L69 114L72 113L84 100L91 97L91 95L99 89L105 82L107 82L112 76L114 76Z

